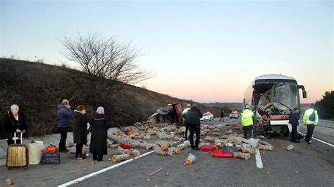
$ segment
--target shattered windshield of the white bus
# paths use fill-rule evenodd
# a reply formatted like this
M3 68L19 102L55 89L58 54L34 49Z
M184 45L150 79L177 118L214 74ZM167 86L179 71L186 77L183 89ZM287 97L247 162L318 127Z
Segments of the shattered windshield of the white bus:
M298 108L298 89L294 82L261 83L255 86L255 103L260 115L290 114Z

